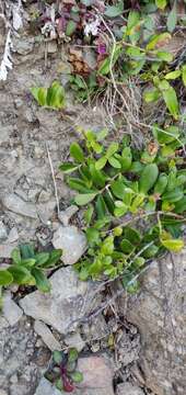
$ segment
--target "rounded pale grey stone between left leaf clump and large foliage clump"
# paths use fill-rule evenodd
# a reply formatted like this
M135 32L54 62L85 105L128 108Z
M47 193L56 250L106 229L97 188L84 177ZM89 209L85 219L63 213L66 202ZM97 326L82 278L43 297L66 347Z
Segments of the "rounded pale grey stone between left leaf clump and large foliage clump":
M86 238L75 226L60 226L54 234L53 245L62 249L65 264L73 264L86 250Z

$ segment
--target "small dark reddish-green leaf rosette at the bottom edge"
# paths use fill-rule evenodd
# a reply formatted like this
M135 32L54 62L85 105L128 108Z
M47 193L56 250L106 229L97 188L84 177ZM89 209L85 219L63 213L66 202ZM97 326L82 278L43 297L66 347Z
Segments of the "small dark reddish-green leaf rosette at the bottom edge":
M59 391L73 392L77 384L83 381L81 372L77 371L78 351L75 348L69 349L68 353L54 351L53 365L46 376L55 382Z

